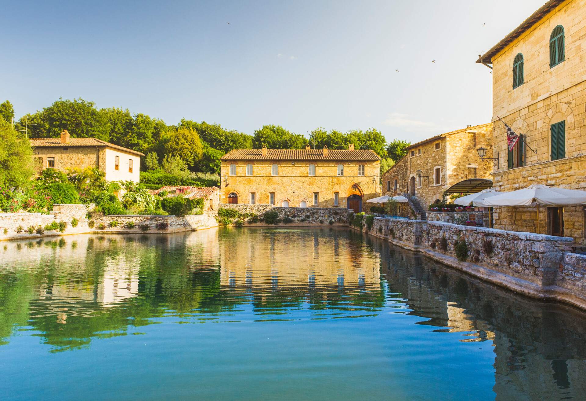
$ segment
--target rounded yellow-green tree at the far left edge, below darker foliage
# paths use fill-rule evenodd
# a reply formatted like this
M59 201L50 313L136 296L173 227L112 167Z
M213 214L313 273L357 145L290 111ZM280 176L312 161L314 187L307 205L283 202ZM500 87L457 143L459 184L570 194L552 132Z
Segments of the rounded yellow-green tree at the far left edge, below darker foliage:
M9 123L0 122L0 187L26 188L34 174L29 140Z

